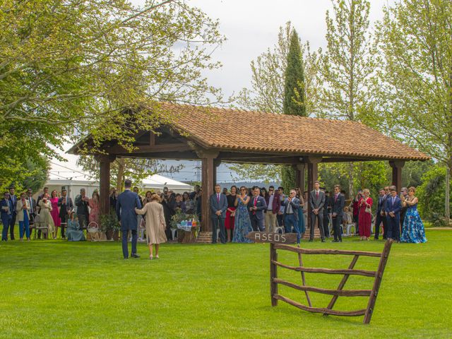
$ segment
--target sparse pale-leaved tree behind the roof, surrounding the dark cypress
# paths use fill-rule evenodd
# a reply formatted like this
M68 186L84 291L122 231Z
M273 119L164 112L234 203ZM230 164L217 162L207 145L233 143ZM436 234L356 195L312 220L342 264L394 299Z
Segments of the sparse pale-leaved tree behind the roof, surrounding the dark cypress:
M280 27L278 33L278 42L273 49L266 52L251 61L251 89L244 88L237 97L237 105L242 109L249 109L261 112L272 112L275 114L283 114L285 102L285 71L287 69L287 60L292 38L297 44L301 53L299 57L299 65L302 65L302 82L295 80L293 82L293 90L291 101L294 107L303 107L307 112L314 112L316 109L315 97L318 91L316 85L316 53L312 53L309 49L309 43L301 43L298 35L293 35L294 28L290 22L285 27ZM300 55L299 53L299 55ZM304 64L302 60L304 59ZM271 133L271 131L268 131ZM286 172L286 181L289 184L285 189L292 188L295 185L295 173L285 167L279 165L232 165L230 167L237 172L238 177L244 180L258 180L264 182L278 182Z

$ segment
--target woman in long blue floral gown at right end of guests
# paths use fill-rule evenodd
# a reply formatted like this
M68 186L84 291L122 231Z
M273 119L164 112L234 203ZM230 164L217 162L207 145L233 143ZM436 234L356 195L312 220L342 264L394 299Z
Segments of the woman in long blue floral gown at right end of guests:
M408 189L408 198L402 197L403 206L408 206L405 214L405 220L403 221L403 233L400 237L400 242L412 242L419 244L421 242L427 242L424 232L424 224L417 212L417 198L415 197L416 189L410 187Z

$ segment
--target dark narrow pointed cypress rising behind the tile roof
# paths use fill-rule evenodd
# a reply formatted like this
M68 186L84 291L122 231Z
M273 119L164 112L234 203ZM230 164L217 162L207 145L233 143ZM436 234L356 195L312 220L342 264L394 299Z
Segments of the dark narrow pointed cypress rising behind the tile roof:
M305 97L302 49L299 46L297 31L292 30L289 52L287 53L287 66L284 72L283 113L306 117ZM289 172L289 170L286 169L286 172Z

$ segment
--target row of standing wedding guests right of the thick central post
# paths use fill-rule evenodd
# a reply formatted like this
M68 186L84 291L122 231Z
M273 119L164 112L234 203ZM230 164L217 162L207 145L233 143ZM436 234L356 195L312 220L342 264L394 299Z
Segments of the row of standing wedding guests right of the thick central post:
M427 242L424 225L417 212L415 187L403 189L398 196L396 186L388 186L379 191L376 208L375 239L379 239L380 226L383 239L396 242ZM291 189L285 196L283 187L273 186L237 189L230 191L215 186L210 196L210 218L213 224L212 242L251 242L246 235L251 231L275 232L275 226L284 227L285 232L296 232L297 242L304 236L307 225L308 204L311 206L311 227L309 242L314 240L315 227L319 227L321 242L330 236L329 222L332 223L333 242L342 242L343 227L355 221L355 228L361 240L369 240L373 221L373 200L369 189L359 191L357 197L345 206L345 191L334 186L330 195L321 189L320 182L314 182L314 189L302 194L300 189Z

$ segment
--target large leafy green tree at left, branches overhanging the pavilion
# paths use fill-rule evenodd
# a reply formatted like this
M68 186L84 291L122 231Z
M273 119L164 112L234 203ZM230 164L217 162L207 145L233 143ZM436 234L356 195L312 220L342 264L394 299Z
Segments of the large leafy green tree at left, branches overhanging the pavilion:
M224 37L186 1L5 0L0 26L1 186L27 159L57 156L74 131L94 147L130 146L168 120L158 100L221 100L202 71L220 66L210 52Z

